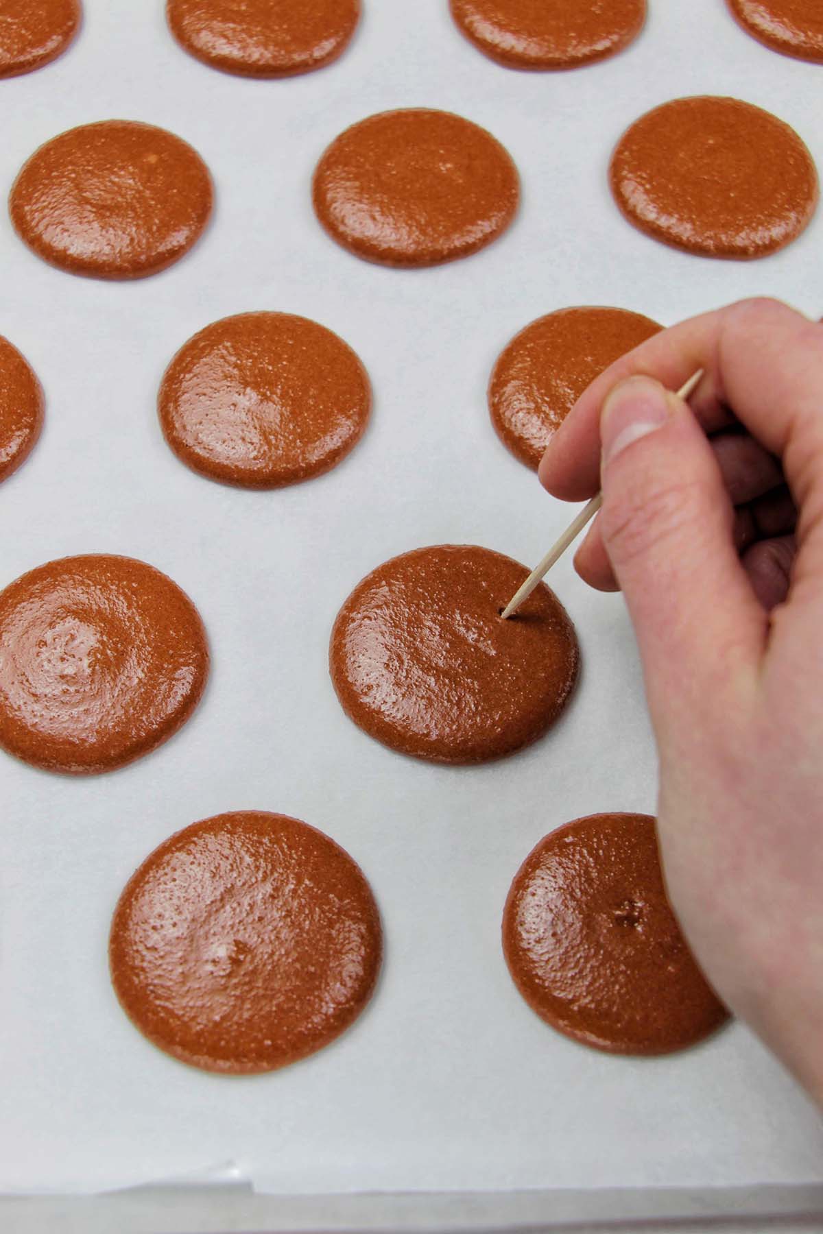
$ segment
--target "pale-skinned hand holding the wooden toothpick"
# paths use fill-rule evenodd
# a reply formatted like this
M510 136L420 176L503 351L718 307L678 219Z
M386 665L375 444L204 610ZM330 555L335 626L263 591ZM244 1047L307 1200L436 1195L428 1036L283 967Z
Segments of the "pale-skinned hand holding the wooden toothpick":
M669 391L702 368L690 406ZM748 300L650 338L582 395L543 485L603 507L658 744L658 828L718 995L823 1106L823 325Z

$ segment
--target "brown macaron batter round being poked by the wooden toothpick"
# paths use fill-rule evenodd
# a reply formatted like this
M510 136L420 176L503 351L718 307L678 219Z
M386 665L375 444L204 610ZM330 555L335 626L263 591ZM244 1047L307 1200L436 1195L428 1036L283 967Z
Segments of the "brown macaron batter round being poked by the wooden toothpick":
M332 631L345 713L384 745L432 763L485 763L540 737L569 700L579 650L543 584L501 618L527 574L470 544L416 549L373 570Z

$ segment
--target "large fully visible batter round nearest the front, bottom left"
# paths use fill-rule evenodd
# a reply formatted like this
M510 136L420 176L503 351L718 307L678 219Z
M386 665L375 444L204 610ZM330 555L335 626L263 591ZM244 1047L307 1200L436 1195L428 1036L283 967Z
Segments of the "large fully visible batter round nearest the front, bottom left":
M271 1071L333 1041L381 959L362 870L322 832L263 811L172 835L111 924L115 992L141 1033L206 1071Z

